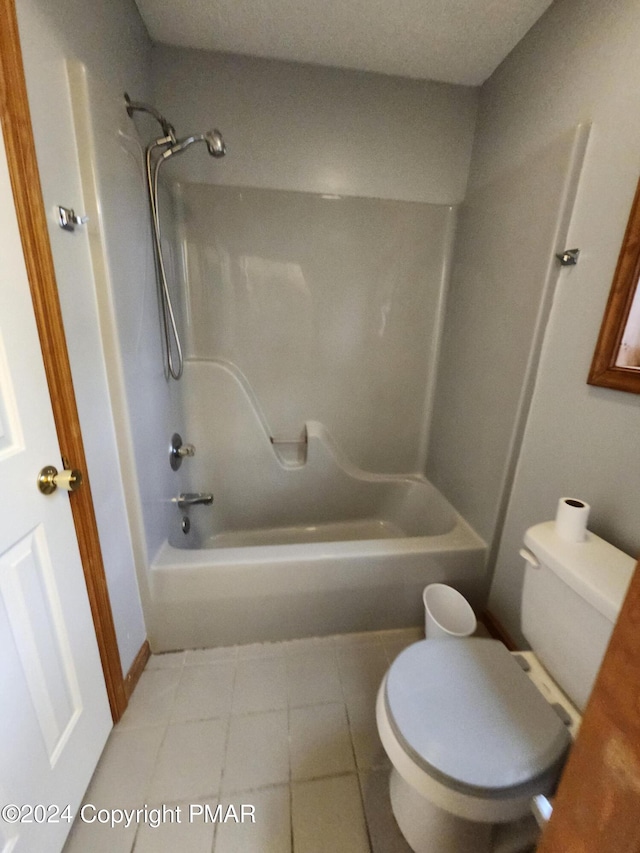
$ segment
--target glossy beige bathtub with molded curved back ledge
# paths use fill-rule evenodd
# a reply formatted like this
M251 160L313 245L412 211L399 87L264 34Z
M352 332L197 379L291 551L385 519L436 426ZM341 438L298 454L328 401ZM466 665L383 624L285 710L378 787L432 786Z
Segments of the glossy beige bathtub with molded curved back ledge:
M150 568L154 651L420 625L436 581L483 603L485 543L431 483L362 471L322 424L305 432L295 448L252 440L244 466L205 455L189 485L216 484L214 504L190 508L186 537L176 511Z

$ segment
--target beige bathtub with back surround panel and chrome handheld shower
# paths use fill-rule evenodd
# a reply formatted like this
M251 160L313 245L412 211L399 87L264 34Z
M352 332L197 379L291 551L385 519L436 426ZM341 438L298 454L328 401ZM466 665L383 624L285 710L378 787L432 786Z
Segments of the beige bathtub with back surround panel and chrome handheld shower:
M147 149L159 246L160 166L225 146L127 106L162 128ZM484 542L423 476L395 473L425 467L451 208L205 183L174 198L181 311L156 248L158 296L196 450L149 569L154 651L419 625L436 581L479 605Z

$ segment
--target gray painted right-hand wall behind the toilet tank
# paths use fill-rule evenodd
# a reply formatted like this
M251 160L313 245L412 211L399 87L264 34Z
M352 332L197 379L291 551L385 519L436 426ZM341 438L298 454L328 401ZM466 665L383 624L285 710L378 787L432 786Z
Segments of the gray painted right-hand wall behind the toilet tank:
M637 0L561 0L481 90L471 194L578 122L593 123L567 237L582 254L556 287L490 594L490 609L516 638L522 536L529 525L554 517L560 496L588 501L595 533L634 556L640 552L640 397L586 384L640 171L638 67ZM458 298L477 300L476 284L469 278ZM494 310L479 309L480 326ZM502 371L496 364L475 389L476 418L499 426L489 389ZM461 439L461 457L473 439L473 431ZM478 503L485 483L479 472Z

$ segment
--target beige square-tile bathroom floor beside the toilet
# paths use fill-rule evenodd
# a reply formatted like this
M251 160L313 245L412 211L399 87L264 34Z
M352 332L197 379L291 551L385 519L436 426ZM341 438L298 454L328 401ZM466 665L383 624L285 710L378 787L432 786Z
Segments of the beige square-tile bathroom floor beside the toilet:
M65 853L410 853L389 806L375 697L394 657L423 636L152 656L84 802L164 805L166 819L157 828L78 821ZM215 817L218 804L226 822L190 820L190 806ZM236 823L243 805L247 819Z

